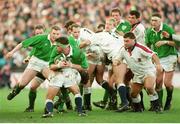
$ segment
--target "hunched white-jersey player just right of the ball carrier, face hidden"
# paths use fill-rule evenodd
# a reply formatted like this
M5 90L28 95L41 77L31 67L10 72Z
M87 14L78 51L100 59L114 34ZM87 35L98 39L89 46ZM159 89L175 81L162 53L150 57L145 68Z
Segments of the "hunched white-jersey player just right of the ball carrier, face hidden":
M92 110L91 107L91 85L94 77L99 84L106 82L103 80L103 74L105 70L104 53L98 44L90 44L95 33L87 28L80 29L80 35L78 40L80 41L79 47L85 49L88 58L89 68L88 74L90 80L88 84L84 86L84 109Z

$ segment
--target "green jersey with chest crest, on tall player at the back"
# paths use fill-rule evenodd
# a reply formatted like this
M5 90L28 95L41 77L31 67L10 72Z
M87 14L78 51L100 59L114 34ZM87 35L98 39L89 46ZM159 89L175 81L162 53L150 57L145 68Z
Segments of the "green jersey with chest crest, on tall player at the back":
M131 30L131 24L128 21L122 21L117 27L116 27L117 31L123 32L123 33L127 33Z

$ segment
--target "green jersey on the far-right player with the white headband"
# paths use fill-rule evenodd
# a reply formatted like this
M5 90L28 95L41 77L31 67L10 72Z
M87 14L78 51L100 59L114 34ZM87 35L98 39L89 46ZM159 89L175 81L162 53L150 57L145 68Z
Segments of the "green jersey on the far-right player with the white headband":
M167 24L161 24L159 32L156 32L153 28L149 28L146 31L146 40L145 43L147 46L151 47L154 52L157 53L159 58L167 57L169 55L177 55L176 48L170 45L162 45L159 48L155 46L158 41L170 40L165 38L162 35L162 32L166 31L169 34L174 34L174 30L169 27Z

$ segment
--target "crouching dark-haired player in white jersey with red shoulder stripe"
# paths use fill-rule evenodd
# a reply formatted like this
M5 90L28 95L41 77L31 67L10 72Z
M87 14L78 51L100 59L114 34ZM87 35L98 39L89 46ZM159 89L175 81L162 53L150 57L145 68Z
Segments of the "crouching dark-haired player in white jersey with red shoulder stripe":
M129 32L124 35L124 47L121 48L120 54L114 58L113 62L118 65L122 63L123 59L126 60L128 66L134 73L133 83L131 85L133 111L142 112L139 93L142 88L145 87L154 110L161 112L158 94L154 87L156 83L156 70L159 72L162 71L162 66L157 55L149 48L138 43L135 35Z

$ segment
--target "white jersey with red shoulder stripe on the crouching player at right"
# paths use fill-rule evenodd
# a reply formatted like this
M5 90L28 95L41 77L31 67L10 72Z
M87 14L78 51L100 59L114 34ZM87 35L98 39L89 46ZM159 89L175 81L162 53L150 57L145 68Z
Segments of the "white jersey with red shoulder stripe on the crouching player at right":
M155 65L152 63L154 54L148 47L136 43L131 50L122 47L119 56L115 59L120 61L125 59L132 72L135 75L140 75L146 74L149 70L155 70Z

